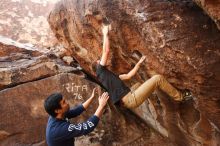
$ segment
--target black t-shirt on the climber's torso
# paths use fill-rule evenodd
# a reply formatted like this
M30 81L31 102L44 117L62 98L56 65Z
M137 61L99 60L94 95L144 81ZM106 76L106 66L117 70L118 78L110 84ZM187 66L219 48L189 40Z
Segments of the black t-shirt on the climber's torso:
M130 92L130 89L122 82L118 75L115 75L101 64L97 65L96 75L114 104L118 103L123 96Z

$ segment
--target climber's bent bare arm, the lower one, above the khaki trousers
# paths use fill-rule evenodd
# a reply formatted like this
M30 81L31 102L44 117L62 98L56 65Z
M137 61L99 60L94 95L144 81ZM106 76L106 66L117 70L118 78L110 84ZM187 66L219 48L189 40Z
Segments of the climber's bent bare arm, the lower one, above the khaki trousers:
M134 68L127 74L121 74L119 75L119 78L121 80L129 80L131 79L140 68L141 63L146 59L146 56L142 56L141 59L138 61L138 63L134 66Z

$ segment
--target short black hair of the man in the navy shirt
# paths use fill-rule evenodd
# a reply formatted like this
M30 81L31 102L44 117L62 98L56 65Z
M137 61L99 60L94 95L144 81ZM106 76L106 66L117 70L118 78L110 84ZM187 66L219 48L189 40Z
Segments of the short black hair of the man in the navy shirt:
M46 112L52 117L56 117L57 113L55 113L56 109L60 109L60 101L63 99L61 93L54 93L47 97L44 101L44 108Z

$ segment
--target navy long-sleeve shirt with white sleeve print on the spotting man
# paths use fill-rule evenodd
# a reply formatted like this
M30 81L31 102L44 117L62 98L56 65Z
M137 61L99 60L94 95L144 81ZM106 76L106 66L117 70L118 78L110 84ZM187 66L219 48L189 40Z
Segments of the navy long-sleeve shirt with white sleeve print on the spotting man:
M68 119L80 115L84 111L83 105L79 105L66 113L66 119L49 117L46 129L46 140L48 146L74 146L74 137L88 134L94 130L99 122L95 115L87 121L78 124L71 124Z

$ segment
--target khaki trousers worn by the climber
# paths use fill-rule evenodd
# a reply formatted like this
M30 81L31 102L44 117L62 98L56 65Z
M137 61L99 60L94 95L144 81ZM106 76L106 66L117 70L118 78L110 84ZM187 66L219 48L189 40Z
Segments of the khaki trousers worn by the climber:
M157 88L167 93L176 101L182 100L182 94L174 88L162 75L154 75L134 91L129 92L122 98L123 106L136 108L140 106Z

